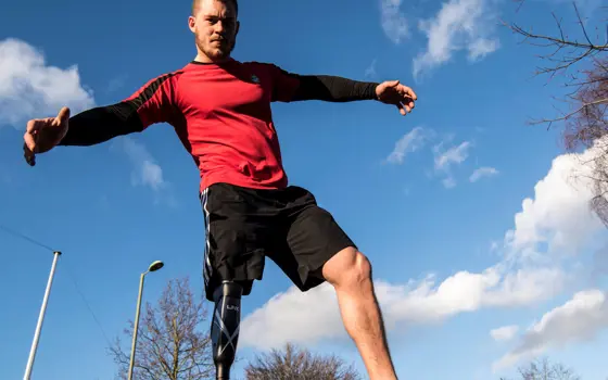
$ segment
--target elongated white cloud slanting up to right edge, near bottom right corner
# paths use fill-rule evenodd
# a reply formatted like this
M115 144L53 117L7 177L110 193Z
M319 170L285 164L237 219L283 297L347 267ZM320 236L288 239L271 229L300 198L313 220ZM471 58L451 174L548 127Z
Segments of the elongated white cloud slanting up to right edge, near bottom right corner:
M597 289L578 292L563 305L546 313L493 368L507 368L552 347L591 340L605 328L608 328L606 293Z

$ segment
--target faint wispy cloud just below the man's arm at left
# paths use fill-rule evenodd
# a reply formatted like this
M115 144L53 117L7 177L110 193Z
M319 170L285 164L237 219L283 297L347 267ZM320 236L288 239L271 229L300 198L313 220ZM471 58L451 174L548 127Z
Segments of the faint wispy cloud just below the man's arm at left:
M164 189L167 182L163 178L163 169L154 162L154 157L148 149L130 137L121 138L121 142L134 165L131 183L148 186L154 191Z

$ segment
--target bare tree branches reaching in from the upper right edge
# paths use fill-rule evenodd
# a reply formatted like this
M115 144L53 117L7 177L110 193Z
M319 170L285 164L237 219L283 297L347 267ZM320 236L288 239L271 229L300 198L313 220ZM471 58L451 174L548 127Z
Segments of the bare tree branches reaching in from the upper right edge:
M520 10L524 0L516 1L520 3ZM601 8L594 14L601 14L607 9ZM575 2L572 10L574 30L567 30L563 20L555 13L552 13L556 24L553 35L534 33L517 24L508 26L523 36L524 41L547 50L540 54L544 64L537 67L536 75L563 80L567 91L556 98L562 104L561 110L556 107L557 116L532 124L547 124L547 127L557 122L563 124L565 148L570 152L594 148L593 155L582 163L588 169L584 177L590 179L593 188L590 206L608 227L608 28L605 21L592 28L581 16ZM574 34L578 37L572 37Z

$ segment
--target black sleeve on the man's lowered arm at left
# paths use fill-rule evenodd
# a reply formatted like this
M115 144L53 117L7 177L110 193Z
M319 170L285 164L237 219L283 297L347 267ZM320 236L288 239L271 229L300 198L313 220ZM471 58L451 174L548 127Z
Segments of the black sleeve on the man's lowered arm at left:
M121 102L94 107L72 116L68 121L67 135L59 144L93 145L143 129L137 113L137 105Z

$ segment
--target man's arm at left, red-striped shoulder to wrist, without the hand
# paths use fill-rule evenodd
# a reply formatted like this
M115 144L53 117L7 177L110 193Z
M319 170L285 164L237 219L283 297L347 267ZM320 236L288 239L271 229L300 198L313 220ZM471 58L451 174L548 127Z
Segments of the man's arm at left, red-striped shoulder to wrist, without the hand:
M170 123L175 114L175 74L154 78L129 98L74 115L59 145L93 145L114 137L143 131L155 123Z

